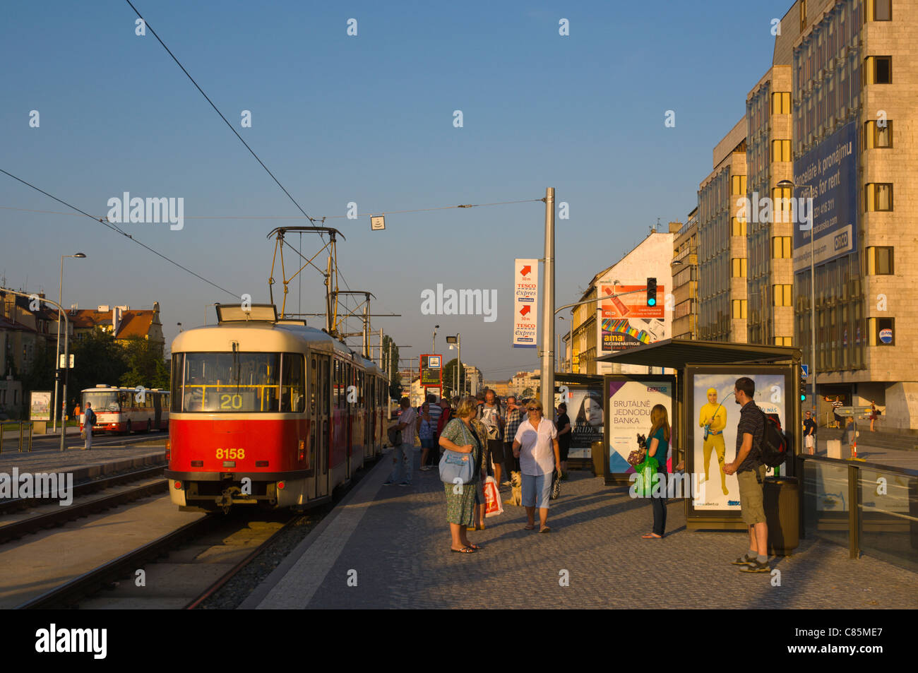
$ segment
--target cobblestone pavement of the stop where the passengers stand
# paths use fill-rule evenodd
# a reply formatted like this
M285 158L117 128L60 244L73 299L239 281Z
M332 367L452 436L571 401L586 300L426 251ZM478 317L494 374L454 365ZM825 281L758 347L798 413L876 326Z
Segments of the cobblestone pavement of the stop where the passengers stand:
M376 465L243 607L918 607L914 573L851 560L845 547L815 538L772 559L780 586L765 573L741 573L730 561L744 553L745 533L689 532L681 501L668 505L666 538L643 540L649 501L585 471L563 483L549 512L552 533L524 531L525 510L505 505L487 530L469 533L484 549L452 554L437 471L416 469L410 488L383 487L390 466ZM561 586L565 572L569 586Z

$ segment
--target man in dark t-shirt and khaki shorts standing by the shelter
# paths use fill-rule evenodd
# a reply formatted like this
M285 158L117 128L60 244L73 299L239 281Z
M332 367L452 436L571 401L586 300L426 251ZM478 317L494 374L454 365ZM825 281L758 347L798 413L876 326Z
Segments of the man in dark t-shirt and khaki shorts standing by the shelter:
M748 376L736 379L734 385L740 421L736 426L736 457L733 463L723 465L724 473L736 474L740 487L740 508L743 521L749 527L749 551L733 561L743 566L744 573L767 573L768 524L762 498L762 482L766 465L762 462L761 447L765 438L765 414L756 406L756 382Z

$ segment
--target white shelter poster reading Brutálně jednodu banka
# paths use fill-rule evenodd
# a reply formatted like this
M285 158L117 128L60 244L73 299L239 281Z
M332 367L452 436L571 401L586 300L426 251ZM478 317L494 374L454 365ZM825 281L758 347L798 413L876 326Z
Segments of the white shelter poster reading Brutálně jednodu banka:
M628 478L634 468L628 455L639 447L640 438L647 440L651 429L650 414L656 405L666 409L670 425L670 452L677 437L673 425L673 400L676 378L673 376L607 375L605 386L606 425L606 483ZM667 454L666 458L669 458Z

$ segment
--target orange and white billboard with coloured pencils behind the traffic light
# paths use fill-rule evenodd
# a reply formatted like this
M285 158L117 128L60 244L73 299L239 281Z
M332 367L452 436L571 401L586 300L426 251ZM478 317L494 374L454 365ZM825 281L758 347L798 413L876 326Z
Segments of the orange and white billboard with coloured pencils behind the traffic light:
M597 291L600 297L599 353L623 351L669 338L664 286L656 287L655 306L647 306L646 283L627 286L599 283Z

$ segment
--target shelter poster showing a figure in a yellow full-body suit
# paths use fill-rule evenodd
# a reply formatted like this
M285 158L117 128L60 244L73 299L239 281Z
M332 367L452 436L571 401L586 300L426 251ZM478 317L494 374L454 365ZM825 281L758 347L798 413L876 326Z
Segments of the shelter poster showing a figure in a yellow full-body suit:
M693 433L692 505L696 510L740 510L736 475L723 472L736 457L736 425L740 405L733 393L736 379L749 376L756 383L756 406L776 413L786 427L787 386L782 374L695 374L692 377L689 428ZM769 468L769 474L773 472Z

